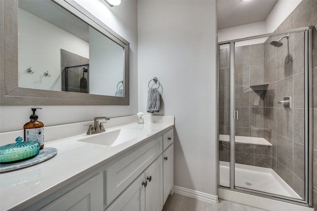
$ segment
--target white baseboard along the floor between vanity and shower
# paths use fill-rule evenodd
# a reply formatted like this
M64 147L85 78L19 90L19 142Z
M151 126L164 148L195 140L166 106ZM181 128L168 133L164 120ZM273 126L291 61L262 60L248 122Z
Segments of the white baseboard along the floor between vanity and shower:
M192 197L194 199L198 199L198 200L202 200L205 202L209 202L212 204L217 204L218 203L218 196L213 196L211 194L207 194L207 193L203 193L200 191L195 191L195 190L191 190L188 188L183 188L180 186L176 186L174 185L174 193L180 194L180 195L184 195L184 196L188 196L188 197Z

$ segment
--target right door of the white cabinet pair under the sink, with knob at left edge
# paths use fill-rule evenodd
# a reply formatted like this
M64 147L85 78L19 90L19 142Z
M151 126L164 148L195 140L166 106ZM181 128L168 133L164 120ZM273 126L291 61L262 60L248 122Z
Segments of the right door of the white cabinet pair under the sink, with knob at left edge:
M148 182L145 188L146 211L161 211L163 209L162 170L162 156L159 156L159 158L145 170L145 178Z

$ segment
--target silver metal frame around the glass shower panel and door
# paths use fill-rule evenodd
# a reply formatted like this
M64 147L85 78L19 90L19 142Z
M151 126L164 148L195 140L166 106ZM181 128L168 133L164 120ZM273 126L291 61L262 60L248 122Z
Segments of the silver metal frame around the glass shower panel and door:
M302 206L312 206L313 205L313 28L314 26L303 27L293 30L288 30L278 33L269 33L259 36L252 36L243 39L235 39L231 41L224 41L218 43L218 75L219 75L219 50L220 45L229 44L230 45L230 188L220 186L218 179L218 188L226 189L230 191L241 192L245 194L252 194L255 196L260 196L268 199L278 200L282 202L302 205ZM290 197L284 197L280 195L275 195L271 193L264 193L261 191L250 190L242 187L235 187L235 75L234 75L234 53L235 53L235 43L240 41L248 41L260 38L266 38L271 36L285 35L286 33L305 33L305 199L294 199ZM218 79L219 87L219 79ZM218 95L218 111L219 111L219 95ZM219 122L218 122L219 123ZM218 124L219 125L219 124ZM219 131L219 130L218 130ZM311 141L310 141L311 140ZM218 142L219 145L219 132L218 132ZM219 147L218 147L219 151ZM218 177L219 177L219 156L218 156Z

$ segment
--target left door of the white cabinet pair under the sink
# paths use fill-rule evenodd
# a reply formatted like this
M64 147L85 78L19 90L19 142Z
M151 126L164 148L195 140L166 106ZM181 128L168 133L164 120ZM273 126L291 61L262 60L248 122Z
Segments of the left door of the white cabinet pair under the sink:
M145 211L145 173L142 173L106 211Z

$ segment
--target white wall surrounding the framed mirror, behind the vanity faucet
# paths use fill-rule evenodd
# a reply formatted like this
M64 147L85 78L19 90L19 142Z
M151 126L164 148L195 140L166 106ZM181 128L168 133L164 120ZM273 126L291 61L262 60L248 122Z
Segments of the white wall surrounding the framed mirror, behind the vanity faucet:
M104 0L76 1L130 43L130 106L0 106L0 132L21 130L29 121L32 106L43 108L37 113L45 126L92 120L101 115L116 117L137 113L137 1L122 0L120 6L112 8Z

